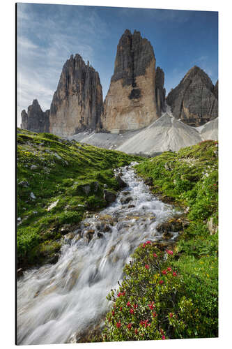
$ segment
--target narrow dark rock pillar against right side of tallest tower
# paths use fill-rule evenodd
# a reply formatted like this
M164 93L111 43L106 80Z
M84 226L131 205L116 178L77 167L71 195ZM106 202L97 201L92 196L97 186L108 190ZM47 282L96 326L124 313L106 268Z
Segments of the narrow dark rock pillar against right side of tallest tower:
M164 89L164 71L157 66L155 71L155 97L157 103L157 114L160 116L162 112L166 112Z

